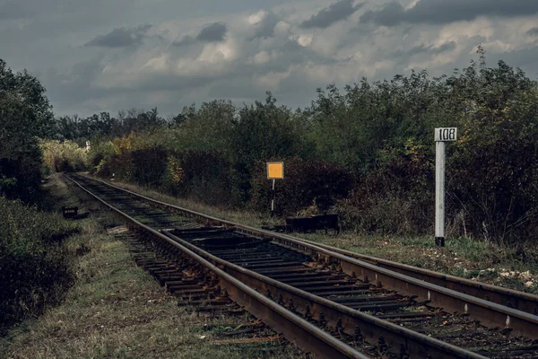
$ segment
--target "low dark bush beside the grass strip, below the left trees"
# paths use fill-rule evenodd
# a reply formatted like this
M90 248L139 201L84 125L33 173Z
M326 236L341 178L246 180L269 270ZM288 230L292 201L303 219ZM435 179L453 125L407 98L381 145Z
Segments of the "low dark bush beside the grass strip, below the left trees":
M62 206L79 206L79 213L99 208L80 202L59 175L43 186L48 201L26 206L0 198L0 336L26 318L37 318L49 306L62 302L76 279L77 259L99 232L92 218L66 220Z

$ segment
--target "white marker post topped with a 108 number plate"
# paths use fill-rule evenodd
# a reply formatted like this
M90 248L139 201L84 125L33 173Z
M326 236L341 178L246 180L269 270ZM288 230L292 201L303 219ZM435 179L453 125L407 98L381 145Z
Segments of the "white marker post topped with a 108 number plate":
M445 142L456 138L456 127L435 129L435 244L440 247L445 247Z

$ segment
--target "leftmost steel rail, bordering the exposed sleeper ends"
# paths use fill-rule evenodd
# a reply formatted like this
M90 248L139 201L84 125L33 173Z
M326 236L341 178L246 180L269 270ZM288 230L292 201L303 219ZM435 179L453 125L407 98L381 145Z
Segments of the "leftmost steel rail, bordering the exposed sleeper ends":
M158 237L161 241L166 241L176 249L181 250L188 257L194 258L198 263L213 271L219 277L219 285L221 285L221 288L227 290L230 298L234 302L238 302L240 305L244 306L247 311L252 313L256 318L264 321L277 332L281 332L284 337L286 337L292 343L295 343L300 348L312 352L320 358L369 358L369 356L361 354L351 346L348 346L347 344L338 340L336 337L333 337L322 329L317 328L315 325L308 322L308 320L300 318L298 315L282 307L280 304L266 298L263 294L257 293L254 289L248 285L245 285L237 278L230 276L230 274L224 272L221 268L214 266L212 263L199 256L192 250L189 250L185 246L179 244L178 241L170 239L161 232L157 232L151 227L140 223L132 216L127 215L126 213L117 209L115 206L108 204L108 202L84 188L76 180L66 175L65 177L72 180L74 184L82 188L82 190L91 195L91 197L94 197L103 205L108 206L118 215L126 218L129 222L134 223L138 228L143 229L145 232L151 233L153 236Z

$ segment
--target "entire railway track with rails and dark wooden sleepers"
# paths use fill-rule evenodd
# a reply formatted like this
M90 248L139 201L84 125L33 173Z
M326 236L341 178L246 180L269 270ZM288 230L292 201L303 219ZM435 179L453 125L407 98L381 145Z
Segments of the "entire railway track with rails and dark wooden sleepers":
M235 302L317 355L538 356L538 318L532 313L405 276L334 248L148 201L102 181L76 179L139 224L163 253L195 258L213 270ZM258 293L248 293L246 301L248 291L241 285ZM253 299L255 293L264 294L264 300ZM532 310L528 302L533 298L524 298L524 308ZM270 304L280 319L263 317L268 311L264 305ZM284 328L283 317L295 320L293 326ZM313 344L313 337L321 344Z

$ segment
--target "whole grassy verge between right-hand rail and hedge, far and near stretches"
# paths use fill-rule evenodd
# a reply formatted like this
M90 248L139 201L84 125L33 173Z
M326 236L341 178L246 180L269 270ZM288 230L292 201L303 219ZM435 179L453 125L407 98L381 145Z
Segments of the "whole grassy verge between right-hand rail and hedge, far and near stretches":
M166 203L238 223L258 227L282 223L282 218L271 218L269 215L253 211L230 211L183 198L167 196L153 189L140 188L124 182L114 181L111 183ZM511 247L491 241L454 237L447 238L445 248L438 248L433 237L430 236L375 236L356 232L343 232L339 236L327 235L324 232L295 233L295 235L369 256L395 260L455 276L475 278L495 285L525 290L525 292L538 293L538 253L531 244L523 245L523 247ZM516 272L530 271L534 278L534 284L525 285L528 279L518 278L517 273L516 277L486 275L483 271L491 267L497 268L496 273L500 272L501 269Z

